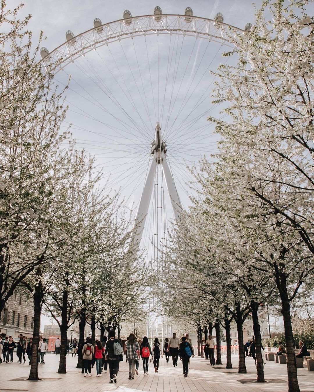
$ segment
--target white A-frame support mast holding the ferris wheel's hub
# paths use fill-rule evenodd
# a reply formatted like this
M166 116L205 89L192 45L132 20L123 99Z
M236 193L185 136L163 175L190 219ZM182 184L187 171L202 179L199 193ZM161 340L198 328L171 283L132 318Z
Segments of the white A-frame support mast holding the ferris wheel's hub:
M136 225L134 227L134 233L133 233L134 240L138 241L138 244L140 243L140 240L143 235L145 220L148 213L149 203L151 201L151 195L154 187L157 165L162 165L163 176L166 181L168 193L171 200L172 210L176 220L178 220L178 217L182 210L180 198L176 190L176 185L174 183L171 171L169 169L165 157L165 154L167 154L167 150L166 150L165 142L163 141L162 138L162 131L160 129L159 122L156 124L155 140L152 145L151 153L154 154L154 157L145 181L140 205L138 207L138 212L136 214L136 221L135 221Z

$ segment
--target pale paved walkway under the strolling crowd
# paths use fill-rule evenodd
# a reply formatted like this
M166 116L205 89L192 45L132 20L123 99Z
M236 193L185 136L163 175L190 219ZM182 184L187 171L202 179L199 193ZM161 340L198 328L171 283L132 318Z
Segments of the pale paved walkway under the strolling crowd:
M209 361L201 358L191 358L189 378L182 374L182 364L173 368L166 363L165 358L160 361L158 373L154 373L152 364L149 375L143 376L140 364L140 375L129 380L128 364L120 362L118 382L109 384L109 373L96 377L96 365L92 369L92 377L84 378L79 369L76 369L77 358L67 356L67 374L58 374L58 359L55 354L46 354L45 365L39 365L41 381L26 381L29 374L29 365L19 365L15 356L13 363L0 365L0 391L31 391L31 392L133 392L133 391L164 391L164 392L285 392L288 390L287 368L274 362L265 365L265 378L267 383L258 384L254 360L247 358L247 374L238 374L237 369L225 369L225 365L211 367ZM171 359L170 359L171 360ZM237 357L232 356L234 366L237 366ZM307 368L298 369L299 385L302 392L314 392L314 372ZM243 383L244 382L244 383Z

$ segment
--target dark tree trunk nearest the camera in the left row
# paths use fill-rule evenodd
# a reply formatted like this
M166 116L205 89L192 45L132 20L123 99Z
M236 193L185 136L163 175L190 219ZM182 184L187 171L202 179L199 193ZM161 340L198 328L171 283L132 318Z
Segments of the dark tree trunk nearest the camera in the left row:
M33 331L33 351L31 360L31 370L29 371L28 380L39 380L38 377L38 342L40 332L40 313L42 312L42 281L41 269L38 267L35 273L35 290L34 290L34 331Z

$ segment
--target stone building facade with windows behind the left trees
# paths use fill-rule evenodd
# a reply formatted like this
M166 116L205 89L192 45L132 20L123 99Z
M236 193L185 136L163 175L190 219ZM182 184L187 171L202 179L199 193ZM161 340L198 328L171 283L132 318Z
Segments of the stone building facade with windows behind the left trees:
M27 338L33 337L34 303L31 294L15 291L0 314L0 328L2 336L18 338L19 334Z

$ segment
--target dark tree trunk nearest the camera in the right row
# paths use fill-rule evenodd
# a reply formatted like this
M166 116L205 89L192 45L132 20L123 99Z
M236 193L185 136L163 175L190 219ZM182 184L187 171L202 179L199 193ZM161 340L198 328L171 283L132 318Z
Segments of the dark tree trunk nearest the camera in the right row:
M280 296L281 297L281 296ZM298 375L296 369L296 356L293 350L293 333L291 325L291 315L290 315L290 303L289 299L281 298L282 309L281 313L283 315L283 324L285 327L285 340L287 349L287 371L288 371L288 386L289 392L299 392Z

